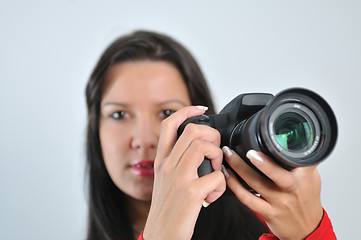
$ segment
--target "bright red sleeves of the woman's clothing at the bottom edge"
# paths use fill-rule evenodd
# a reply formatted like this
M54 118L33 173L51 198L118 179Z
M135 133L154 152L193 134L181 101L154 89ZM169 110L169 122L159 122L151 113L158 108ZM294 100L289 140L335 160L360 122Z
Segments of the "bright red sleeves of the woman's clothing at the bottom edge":
M320 226L311 233L306 240L336 240L335 232L333 231L332 223L325 210L323 210L323 218ZM143 239L143 232L140 234L138 240ZM263 234L259 240L278 240L278 238L272 233Z

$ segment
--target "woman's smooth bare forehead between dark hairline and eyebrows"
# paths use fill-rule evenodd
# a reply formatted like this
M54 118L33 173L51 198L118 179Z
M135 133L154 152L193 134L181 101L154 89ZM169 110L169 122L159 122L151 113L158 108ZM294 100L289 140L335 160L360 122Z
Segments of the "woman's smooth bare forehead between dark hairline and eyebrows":
M113 66L106 75L104 100L154 100L190 98L183 77L176 67L163 61L125 62Z

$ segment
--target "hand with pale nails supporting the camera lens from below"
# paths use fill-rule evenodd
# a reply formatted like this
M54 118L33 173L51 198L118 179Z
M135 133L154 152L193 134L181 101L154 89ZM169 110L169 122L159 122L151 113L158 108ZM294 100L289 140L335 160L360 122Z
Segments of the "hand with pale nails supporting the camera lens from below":
M288 171L265 154L249 151L247 157L266 178L234 151L227 147L223 150L231 168L261 196L247 190L230 171L228 187L243 204L266 221L278 238L305 239L318 227L323 209L320 200L321 178L316 166Z

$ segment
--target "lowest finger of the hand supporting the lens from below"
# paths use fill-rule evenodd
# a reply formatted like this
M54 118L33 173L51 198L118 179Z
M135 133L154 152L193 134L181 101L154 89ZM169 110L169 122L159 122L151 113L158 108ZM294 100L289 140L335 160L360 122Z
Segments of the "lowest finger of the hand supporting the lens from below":
M227 186L232 190L236 197L249 209L264 216L271 209L271 205L264 199L257 197L253 193L249 192L232 173L227 170L229 177L226 179Z

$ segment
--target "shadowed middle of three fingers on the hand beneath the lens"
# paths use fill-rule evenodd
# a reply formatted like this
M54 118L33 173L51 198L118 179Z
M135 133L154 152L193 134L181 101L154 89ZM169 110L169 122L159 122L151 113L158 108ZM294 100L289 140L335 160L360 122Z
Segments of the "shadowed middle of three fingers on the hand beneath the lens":
M233 150L228 147L222 148L229 166L256 192L266 199L272 195L274 184L265 176L249 166Z

